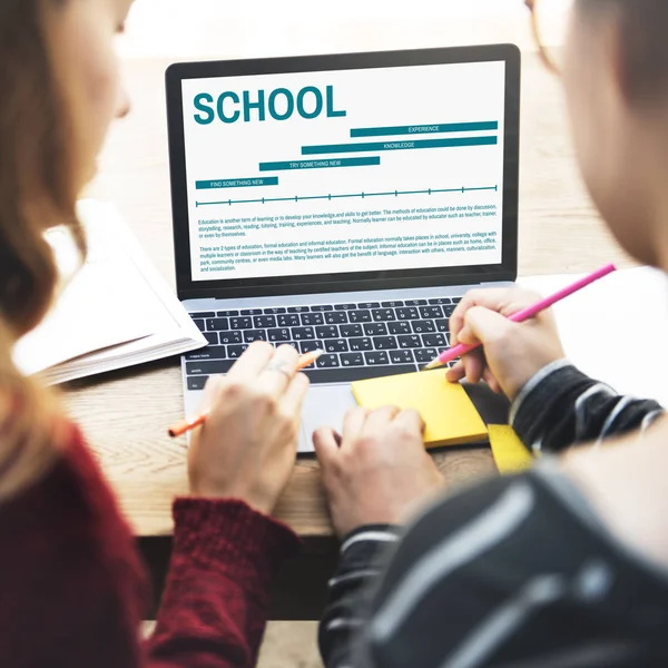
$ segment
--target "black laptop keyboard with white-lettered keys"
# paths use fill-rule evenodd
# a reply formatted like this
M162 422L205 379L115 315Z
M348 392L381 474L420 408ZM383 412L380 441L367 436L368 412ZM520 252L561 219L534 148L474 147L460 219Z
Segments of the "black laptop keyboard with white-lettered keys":
M209 342L185 355L188 390L227 373L254 341L325 353L304 373L342 383L419 371L450 346L450 316L461 297L322 304L191 313Z

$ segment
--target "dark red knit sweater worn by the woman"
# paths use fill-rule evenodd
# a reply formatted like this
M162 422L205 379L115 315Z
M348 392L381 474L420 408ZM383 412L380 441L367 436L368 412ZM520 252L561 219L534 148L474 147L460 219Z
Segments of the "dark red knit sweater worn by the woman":
M132 537L78 430L36 487L0 504L0 666L254 666L273 576L297 544L235 500L178 499L153 638Z

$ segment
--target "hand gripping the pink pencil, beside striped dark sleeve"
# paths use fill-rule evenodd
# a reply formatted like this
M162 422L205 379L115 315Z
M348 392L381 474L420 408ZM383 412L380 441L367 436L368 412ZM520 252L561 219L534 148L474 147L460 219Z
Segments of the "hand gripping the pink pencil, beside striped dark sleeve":
M538 371L563 357L551 310L523 323L508 320L539 298L520 288L469 292L450 318L452 345L482 343L482 347L450 369L448 380L454 383L465 376L479 383L484 379L494 392L513 400Z

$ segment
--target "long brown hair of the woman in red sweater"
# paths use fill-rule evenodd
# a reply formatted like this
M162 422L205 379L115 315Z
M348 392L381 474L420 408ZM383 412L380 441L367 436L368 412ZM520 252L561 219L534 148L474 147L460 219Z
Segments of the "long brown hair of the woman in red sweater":
M41 321L58 279L43 232L67 225L85 249L69 115L46 26L47 4L60 10L66 2L0 2L0 501L57 456L55 402L11 361L13 342Z

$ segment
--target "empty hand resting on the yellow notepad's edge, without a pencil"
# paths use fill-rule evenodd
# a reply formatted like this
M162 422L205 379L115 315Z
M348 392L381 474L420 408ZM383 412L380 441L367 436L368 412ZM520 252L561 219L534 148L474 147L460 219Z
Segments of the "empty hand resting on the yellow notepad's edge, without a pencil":
M342 436L330 428L313 434L338 536L363 524L401 523L443 489L423 430L416 411L357 407L345 415Z

